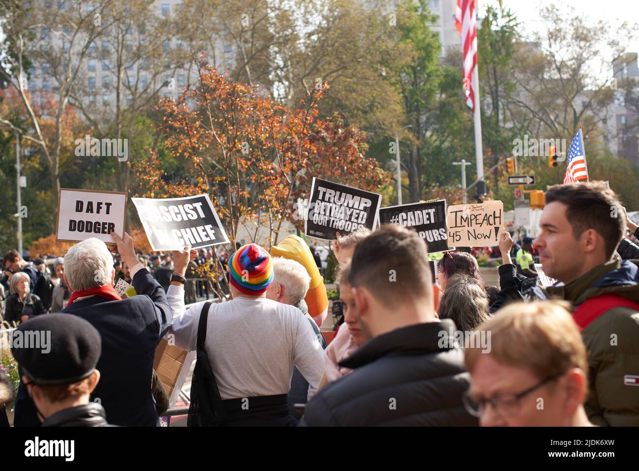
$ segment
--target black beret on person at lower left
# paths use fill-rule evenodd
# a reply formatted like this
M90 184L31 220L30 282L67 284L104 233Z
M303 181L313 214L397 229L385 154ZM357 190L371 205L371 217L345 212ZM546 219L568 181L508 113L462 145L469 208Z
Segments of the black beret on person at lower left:
M88 378L102 351L100 333L72 314L42 314L13 331L12 353L22 371L40 385L65 385Z

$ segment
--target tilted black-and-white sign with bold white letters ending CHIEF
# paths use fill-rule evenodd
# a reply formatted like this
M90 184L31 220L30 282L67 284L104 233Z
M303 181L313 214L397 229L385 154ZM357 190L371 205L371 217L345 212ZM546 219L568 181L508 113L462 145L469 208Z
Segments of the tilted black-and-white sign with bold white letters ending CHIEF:
M208 195L131 198L153 250L227 244L229 239Z

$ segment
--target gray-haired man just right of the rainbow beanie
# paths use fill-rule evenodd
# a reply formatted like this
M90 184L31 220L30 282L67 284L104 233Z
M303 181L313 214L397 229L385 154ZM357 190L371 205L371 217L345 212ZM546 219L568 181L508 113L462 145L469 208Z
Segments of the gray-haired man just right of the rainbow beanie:
M311 327L323 349L326 349L326 341L321 335L318 325L315 323L304 298L309 291L311 276L300 262L284 257L273 257L273 284L266 291L266 298L279 303L288 304L298 308L309 320ZM300 420L302 416L295 410L293 404L305 404L308 400L309 382L302 373L293 368L291 388L288 391L288 408L291 417Z

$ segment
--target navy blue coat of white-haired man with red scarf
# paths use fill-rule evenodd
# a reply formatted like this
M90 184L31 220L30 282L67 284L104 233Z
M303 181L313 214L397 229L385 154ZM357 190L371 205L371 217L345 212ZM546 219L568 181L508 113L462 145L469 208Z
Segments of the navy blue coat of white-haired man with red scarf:
M100 381L91 394L107 412L107 422L118 426L157 426L159 418L151 395L155 347L171 326L173 312L160 284L146 269L132 280L137 296L121 301L93 296L62 310L75 314L100 332ZM33 402L20 384L16 425L36 425ZM35 420L35 422L34 422Z

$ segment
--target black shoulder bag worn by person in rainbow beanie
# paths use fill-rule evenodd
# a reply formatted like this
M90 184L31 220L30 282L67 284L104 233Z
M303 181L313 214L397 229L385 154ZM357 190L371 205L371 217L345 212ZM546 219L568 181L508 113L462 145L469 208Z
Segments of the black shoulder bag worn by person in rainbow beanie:
M187 427L219 427L226 417L215 374L204 350L206 321L208 321L208 310L211 304L211 301L204 303L197 324L197 356L191 379L191 403Z

